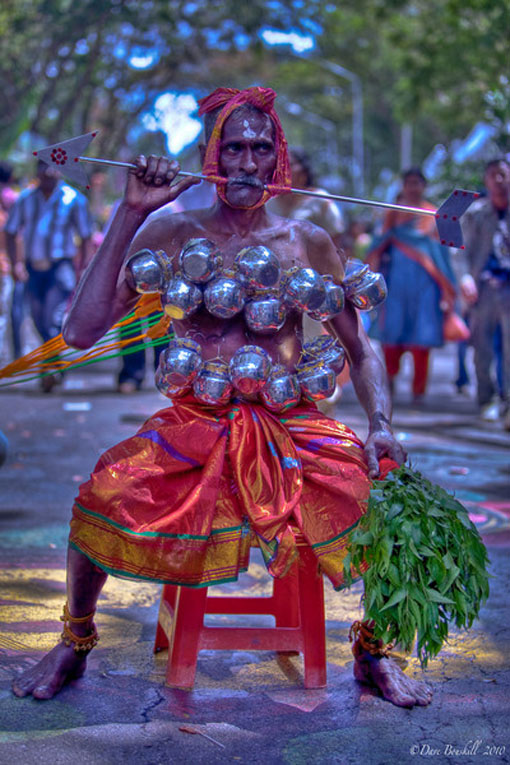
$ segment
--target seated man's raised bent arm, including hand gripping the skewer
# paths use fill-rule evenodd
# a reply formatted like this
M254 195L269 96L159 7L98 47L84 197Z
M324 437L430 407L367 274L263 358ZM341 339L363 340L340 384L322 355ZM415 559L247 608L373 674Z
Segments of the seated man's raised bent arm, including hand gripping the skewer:
M150 226L136 236L138 229L151 212L197 183L188 177L170 185L180 168L164 157L138 157L136 165L128 173L124 198L80 280L65 320L64 340L75 348L89 348L134 307L139 295L123 278L123 265L130 246L150 246Z

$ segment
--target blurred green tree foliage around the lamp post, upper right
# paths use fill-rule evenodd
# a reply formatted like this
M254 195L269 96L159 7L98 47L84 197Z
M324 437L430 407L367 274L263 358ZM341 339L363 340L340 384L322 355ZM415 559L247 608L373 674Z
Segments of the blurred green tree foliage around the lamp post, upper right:
M318 60L361 78L369 185L381 168L398 170L404 123L413 126L415 163L435 144L464 138L479 121L495 125L501 150L510 149L509 0L342 0L329 6L322 23L320 53L309 57L306 71L280 69L279 86L337 121L345 152L349 83L342 85ZM340 97L334 92L339 83Z

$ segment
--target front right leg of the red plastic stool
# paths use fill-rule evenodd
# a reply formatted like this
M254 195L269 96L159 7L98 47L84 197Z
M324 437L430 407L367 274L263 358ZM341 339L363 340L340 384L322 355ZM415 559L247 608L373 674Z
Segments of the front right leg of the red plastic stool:
M324 688L326 676L326 623L324 584L311 549L299 548L299 608L303 631L305 688Z

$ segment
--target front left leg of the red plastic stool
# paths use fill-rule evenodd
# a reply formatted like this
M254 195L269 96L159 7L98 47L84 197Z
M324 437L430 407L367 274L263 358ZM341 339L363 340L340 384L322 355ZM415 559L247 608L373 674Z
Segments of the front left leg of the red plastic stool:
M191 689L195 682L208 588L177 589L166 682L172 688Z

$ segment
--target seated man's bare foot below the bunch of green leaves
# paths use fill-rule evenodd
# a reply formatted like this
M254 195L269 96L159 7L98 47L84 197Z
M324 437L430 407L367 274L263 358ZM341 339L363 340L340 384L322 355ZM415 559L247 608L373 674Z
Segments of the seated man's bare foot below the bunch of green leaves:
M421 680L405 675L398 662L362 651L354 658L354 677L359 683L378 688L385 699L398 707L427 706L432 689Z

